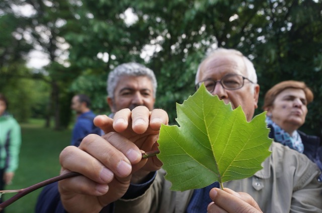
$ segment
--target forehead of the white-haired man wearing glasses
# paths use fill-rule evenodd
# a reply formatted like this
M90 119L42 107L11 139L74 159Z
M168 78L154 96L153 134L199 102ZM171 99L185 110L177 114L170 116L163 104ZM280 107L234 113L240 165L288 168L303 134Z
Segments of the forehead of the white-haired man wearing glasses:
M221 79L227 74L239 74L248 77L244 59L237 55L218 55L205 59L197 76L198 81L207 78Z

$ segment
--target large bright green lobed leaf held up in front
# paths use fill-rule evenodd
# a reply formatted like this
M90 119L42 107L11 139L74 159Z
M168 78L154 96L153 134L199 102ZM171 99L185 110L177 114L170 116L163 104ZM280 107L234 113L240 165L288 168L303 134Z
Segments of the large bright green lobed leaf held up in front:
M180 127L163 125L158 139L172 190L250 177L270 155L265 113L247 122L240 106L232 110L204 85L177 104L177 115Z

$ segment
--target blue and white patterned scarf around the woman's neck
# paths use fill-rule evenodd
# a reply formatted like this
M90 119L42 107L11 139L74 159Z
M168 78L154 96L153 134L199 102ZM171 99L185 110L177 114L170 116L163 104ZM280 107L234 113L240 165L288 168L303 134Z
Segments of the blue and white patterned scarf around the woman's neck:
M268 126L272 126L274 128L274 141L279 142L283 145L290 147L291 149L295 149L300 153L304 151L304 145L302 143L302 139L297 131L294 131L292 135L285 132L279 125L274 123L270 117L266 117L266 123Z

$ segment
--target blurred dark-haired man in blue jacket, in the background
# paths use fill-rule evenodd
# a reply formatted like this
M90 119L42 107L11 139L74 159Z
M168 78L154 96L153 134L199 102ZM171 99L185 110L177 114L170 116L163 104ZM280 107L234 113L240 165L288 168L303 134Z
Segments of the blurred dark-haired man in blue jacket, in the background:
M90 109L91 100L87 95L78 94L71 99L71 109L76 112L77 120L72 130L71 145L78 146L88 134L97 128L93 123L95 114Z

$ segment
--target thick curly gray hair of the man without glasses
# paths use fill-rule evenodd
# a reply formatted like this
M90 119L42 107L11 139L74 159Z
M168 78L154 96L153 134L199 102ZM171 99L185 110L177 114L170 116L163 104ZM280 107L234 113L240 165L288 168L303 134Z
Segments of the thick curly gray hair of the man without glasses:
M114 98L114 91L117 86L117 84L120 81L120 78L122 76L146 76L151 80L152 83L152 88L153 88L153 98L155 98L156 94L156 79L154 76L154 73L152 70L149 68L135 63L135 62L130 62L130 63L124 63L119 66L117 66L114 70L112 70L109 73L109 76L107 78L107 94L110 98Z

